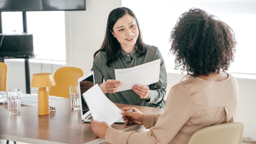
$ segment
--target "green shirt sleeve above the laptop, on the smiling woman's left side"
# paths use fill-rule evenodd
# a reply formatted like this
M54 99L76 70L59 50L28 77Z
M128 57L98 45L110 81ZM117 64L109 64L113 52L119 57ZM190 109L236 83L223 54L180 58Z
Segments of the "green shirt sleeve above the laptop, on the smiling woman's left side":
M91 69L91 71L93 71L93 74L94 74L94 83L98 85L102 84L103 82L103 75L100 69L101 69L101 52L99 52L98 56L93 61L93 65Z

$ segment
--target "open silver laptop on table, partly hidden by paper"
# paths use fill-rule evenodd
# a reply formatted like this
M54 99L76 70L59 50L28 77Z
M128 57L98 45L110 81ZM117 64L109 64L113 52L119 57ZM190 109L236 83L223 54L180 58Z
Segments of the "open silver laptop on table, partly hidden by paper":
M78 79L78 89L79 89L79 98L80 98L80 107L81 107L81 117L83 122L90 122L92 119L91 112L82 96L84 92L94 86L94 74L93 71L88 74L82 76ZM120 118L116 121L116 123L124 123L125 121Z

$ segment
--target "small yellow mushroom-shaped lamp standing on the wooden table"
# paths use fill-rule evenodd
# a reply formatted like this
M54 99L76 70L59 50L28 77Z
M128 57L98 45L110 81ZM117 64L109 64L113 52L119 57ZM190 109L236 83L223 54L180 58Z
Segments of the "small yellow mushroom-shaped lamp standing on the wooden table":
M55 86L51 73L37 73L32 75L31 87L38 87L38 115L48 115L49 91L47 87Z

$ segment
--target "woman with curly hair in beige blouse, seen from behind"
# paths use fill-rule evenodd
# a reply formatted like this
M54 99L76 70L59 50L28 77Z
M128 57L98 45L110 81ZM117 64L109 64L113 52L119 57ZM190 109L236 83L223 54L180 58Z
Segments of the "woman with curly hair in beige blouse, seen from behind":
M163 114L143 114L132 107L122 109L123 119L151 127L149 132L121 132L106 123L91 121L93 132L110 143L186 144L191 135L207 126L233 122L238 85L227 74L234 60L232 29L200 9L183 13L171 33L170 51L176 69L188 78L174 85ZM135 112L126 112L135 109Z

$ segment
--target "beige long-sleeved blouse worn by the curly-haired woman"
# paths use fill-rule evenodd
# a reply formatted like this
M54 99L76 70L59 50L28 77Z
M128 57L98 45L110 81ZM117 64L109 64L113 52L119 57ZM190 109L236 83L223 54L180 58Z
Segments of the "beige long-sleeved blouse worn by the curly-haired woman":
M143 125L151 127L149 132L122 132L110 127L106 142L187 144L201 128L234 122L237 102L238 85L233 76L219 82L189 77L171 88L162 115L143 115Z

